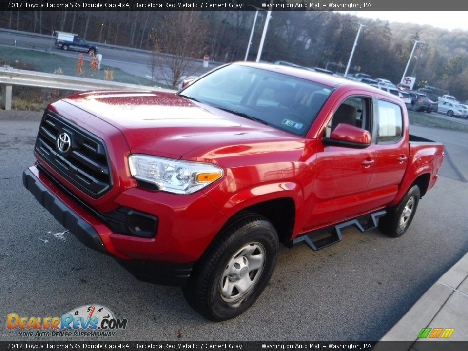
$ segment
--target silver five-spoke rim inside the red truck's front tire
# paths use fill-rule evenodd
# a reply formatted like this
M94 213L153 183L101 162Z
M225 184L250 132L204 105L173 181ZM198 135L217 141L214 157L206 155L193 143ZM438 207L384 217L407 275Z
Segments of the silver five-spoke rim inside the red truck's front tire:
M219 293L224 301L236 302L251 291L262 274L265 256L263 245L254 242L231 257L219 284Z

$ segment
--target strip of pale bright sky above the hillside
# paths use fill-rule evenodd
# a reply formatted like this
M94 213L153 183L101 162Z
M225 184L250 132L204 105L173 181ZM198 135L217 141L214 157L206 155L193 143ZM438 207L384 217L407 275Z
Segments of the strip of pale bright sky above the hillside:
M338 11L389 22L430 24L433 27L468 30L468 11Z

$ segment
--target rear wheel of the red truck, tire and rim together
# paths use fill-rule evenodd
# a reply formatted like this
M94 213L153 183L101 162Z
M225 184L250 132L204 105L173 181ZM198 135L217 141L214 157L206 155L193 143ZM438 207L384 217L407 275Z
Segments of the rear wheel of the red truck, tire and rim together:
M405 234L418 208L421 192L417 185L413 185L401 201L388 209L387 215L379 219L379 229L390 237Z

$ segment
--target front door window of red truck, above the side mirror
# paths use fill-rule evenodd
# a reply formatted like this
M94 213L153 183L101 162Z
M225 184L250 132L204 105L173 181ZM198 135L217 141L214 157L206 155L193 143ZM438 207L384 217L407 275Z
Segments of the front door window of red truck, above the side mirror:
M331 132L341 123L370 132L370 111L370 98L358 96L346 98L331 117L325 130L325 136L330 137Z

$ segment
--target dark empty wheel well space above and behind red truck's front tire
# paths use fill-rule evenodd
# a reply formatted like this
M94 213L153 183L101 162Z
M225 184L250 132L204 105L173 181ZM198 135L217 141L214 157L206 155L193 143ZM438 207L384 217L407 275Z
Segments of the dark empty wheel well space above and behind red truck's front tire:
M296 213L296 207L292 198L281 197L260 202L242 209L242 211L255 212L272 222L278 232L280 242L287 242L291 238Z

